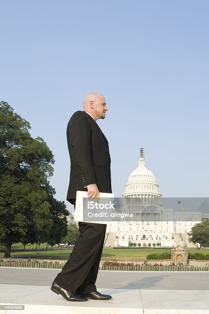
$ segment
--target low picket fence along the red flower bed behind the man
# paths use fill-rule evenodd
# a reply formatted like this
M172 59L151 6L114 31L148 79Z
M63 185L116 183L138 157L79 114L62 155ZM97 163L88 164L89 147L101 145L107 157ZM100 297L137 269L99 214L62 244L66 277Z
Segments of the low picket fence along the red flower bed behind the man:
M54 268L61 269L66 262L53 262L44 260L18 260L18 259L1 259L0 267L27 267L27 268ZM137 272L195 272L195 271L209 271L209 265L205 266L184 266L184 265L99 265L99 270L108 271L137 271Z

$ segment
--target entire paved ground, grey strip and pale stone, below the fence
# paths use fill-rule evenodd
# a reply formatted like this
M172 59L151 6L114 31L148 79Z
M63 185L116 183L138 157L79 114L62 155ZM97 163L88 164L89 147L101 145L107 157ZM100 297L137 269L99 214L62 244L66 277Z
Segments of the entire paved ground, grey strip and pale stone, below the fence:
M60 270L0 268L0 304L24 305L24 314L209 314L207 272L100 271L98 291L111 300L68 302L50 290ZM17 310L0 310L0 314Z

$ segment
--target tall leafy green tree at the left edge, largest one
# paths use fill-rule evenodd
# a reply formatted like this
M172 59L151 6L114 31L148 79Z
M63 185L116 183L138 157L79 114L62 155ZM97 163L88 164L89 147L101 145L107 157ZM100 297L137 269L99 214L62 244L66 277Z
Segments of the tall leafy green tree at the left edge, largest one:
M10 257L12 243L24 236L43 241L53 219L47 192L53 154L44 140L32 138L30 124L0 102L0 241Z

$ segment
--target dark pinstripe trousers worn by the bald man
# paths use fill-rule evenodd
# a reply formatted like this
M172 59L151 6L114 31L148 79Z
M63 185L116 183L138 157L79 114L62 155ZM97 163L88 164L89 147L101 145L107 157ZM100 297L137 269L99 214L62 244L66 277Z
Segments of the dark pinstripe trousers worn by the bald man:
M76 200L73 199L74 207ZM72 293L97 290L95 282L102 256L107 225L79 222L80 235L55 283Z

